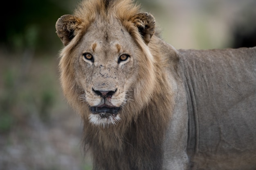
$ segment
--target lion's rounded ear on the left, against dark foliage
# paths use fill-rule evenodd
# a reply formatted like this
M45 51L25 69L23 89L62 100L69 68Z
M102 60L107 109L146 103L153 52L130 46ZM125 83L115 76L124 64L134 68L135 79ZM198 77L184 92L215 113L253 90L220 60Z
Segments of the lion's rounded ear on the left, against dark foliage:
M60 37L64 46L75 37L81 20L73 15L63 15L56 22L56 33Z

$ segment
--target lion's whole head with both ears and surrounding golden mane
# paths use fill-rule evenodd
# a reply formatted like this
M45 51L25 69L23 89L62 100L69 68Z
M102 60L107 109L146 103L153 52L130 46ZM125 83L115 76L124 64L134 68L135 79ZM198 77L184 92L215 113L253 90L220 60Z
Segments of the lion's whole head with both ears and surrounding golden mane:
M84 1L74 15L63 15L56 33L65 46L65 97L84 120L105 127L134 119L153 94L156 71L148 43L155 19L130 0L101 1Z

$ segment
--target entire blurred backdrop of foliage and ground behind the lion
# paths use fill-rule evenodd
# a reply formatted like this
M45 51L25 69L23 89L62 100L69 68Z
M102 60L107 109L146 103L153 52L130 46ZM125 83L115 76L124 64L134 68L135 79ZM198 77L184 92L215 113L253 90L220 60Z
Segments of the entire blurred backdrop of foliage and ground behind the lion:
M55 22L78 0L5 1L0 26L0 170L91 170L82 123L58 81ZM175 48L256 46L256 0L139 0Z

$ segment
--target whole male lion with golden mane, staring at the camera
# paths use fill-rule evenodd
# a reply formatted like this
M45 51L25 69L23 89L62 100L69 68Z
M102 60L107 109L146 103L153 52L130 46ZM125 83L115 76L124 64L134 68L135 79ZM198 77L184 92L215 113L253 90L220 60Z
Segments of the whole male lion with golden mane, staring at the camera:
M175 50L132 0L56 22L94 170L255 170L256 48Z

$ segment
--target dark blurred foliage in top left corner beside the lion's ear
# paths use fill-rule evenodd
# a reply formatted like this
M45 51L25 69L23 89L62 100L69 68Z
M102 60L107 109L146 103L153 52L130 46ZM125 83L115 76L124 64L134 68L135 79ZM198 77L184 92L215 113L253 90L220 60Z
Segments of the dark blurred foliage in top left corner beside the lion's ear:
M2 7L7 9L0 12L2 16L1 45L11 51L27 48L40 52L56 50L61 46L61 42L55 33L55 23L61 15L71 13L72 6L67 2L60 0L5 1ZM74 1L72 3L76 4Z

